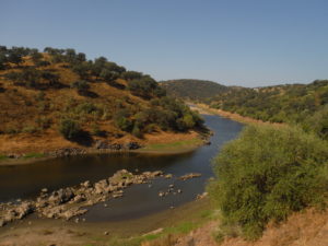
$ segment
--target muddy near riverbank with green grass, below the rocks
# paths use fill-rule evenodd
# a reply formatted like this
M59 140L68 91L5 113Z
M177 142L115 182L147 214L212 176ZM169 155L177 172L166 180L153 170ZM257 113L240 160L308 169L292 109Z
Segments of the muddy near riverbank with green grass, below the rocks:
M137 246L142 242L185 235L215 216L208 198L143 218L118 222L83 222L34 219L0 229L0 245L110 245Z

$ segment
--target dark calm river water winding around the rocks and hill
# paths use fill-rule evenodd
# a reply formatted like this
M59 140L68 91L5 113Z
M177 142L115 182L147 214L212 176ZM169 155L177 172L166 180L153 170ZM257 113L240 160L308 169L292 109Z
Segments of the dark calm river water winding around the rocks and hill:
M126 189L120 199L102 202L83 215L87 221L117 221L139 218L195 200L204 191L207 180L213 176L211 160L221 147L237 137L243 125L220 116L204 115L206 125L214 132L210 145L190 153L159 155L137 153L94 154L54 159L31 165L0 166L0 202L36 197L42 188L49 191L74 186L81 181L97 181L108 178L118 169L132 173L161 169L174 178L159 178L149 184L134 185ZM175 177L188 173L201 173L199 178L179 180ZM161 198L168 185L181 189L181 194ZM104 206L106 203L106 207Z

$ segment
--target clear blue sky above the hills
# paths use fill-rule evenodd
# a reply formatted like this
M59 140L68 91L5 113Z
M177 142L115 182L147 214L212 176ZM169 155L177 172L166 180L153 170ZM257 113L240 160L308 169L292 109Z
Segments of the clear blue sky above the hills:
M0 0L0 44L75 48L156 80L328 79L327 0Z

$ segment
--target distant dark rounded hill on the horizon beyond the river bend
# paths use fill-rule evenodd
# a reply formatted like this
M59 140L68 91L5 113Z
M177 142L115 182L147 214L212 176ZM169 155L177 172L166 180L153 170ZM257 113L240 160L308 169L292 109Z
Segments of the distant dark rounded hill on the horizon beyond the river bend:
M201 102L208 102L209 98L231 90L229 86L206 80L168 80L160 84L169 95Z

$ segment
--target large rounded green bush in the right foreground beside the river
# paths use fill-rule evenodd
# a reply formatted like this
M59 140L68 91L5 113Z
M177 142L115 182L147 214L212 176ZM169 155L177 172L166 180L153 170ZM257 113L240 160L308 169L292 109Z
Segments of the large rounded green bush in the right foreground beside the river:
M247 127L214 160L209 191L222 212L221 231L258 238L266 224L308 206L325 206L328 144L290 127Z

